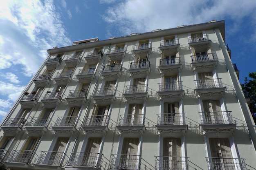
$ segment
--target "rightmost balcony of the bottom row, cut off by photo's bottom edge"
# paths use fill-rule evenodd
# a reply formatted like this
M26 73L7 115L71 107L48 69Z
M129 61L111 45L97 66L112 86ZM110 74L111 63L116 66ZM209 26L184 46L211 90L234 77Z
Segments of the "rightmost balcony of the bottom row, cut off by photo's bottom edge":
M206 158L208 170L247 170L245 159Z

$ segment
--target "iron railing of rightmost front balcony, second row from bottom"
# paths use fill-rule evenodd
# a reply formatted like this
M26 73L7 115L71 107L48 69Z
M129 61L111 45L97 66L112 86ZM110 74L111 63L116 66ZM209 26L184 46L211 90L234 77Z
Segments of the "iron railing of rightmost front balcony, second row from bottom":
M234 124L231 112L200 112L202 124Z

